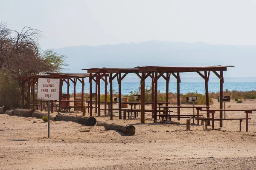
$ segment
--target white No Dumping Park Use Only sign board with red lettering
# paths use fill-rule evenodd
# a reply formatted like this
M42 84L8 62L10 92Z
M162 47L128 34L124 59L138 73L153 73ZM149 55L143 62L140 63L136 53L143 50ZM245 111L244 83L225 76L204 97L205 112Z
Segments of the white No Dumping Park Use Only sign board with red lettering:
M38 99L58 100L60 79L38 79Z

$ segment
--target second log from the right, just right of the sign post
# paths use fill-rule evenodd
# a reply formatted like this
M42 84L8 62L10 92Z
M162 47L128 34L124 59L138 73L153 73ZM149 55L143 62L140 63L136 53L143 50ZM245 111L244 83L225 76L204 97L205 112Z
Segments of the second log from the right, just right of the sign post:
M61 113L58 113L56 115L56 120L79 122L87 126L94 126L97 122L97 120L94 117L74 116Z

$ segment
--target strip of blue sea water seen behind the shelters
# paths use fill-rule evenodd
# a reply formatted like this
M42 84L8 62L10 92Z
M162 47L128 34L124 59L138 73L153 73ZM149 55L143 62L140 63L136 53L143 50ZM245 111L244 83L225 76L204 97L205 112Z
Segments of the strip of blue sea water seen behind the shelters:
M95 93L95 83L93 82L93 93ZM122 82L121 85L121 91L123 95L128 95L130 92L137 91L140 87L140 82ZM145 82L145 87L150 88L151 82ZM209 82L208 83L209 92L218 93L220 91L220 83L219 82ZM72 94L74 92L73 90L73 83L70 83L69 93ZM256 91L256 82L225 82L223 84L223 90L229 90L229 91ZM108 83L107 86L108 92L110 91L110 86ZM157 90L159 90L161 93L166 92L166 83L165 82L158 82L157 83ZM63 93L67 93L67 84L63 84ZM76 93L81 93L82 91L82 85L80 82L77 82L76 85ZM101 94L105 93L105 83L101 82L100 84L100 91ZM113 92L118 93L118 83L113 82ZM169 83L169 92L171 93L177 93L177 83L176 82L170 82ZM204 82L181 82L180 83L180 94L186 94L188 92L197 92L199 94L205 93L205 86ZM85 82L84 85L84 93L89 93L89 83Z

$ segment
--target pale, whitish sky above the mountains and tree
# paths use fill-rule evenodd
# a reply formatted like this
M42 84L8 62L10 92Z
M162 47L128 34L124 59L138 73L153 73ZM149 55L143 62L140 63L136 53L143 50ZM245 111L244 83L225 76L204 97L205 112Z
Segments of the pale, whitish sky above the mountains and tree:
M0 21L37 28L41 45L161 40L256 45L255 0L0 0Z

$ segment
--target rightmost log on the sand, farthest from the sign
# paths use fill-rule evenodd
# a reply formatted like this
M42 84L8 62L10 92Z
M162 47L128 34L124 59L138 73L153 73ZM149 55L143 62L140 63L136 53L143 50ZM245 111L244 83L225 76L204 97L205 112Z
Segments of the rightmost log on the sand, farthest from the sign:
M106 130L118 130L126 135L133 136L135 134L135 127L132 125L116 125L103 122L97 122L97 126L104 126Z

